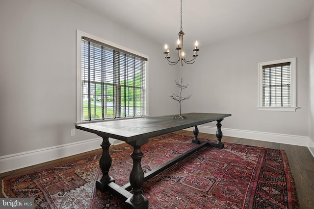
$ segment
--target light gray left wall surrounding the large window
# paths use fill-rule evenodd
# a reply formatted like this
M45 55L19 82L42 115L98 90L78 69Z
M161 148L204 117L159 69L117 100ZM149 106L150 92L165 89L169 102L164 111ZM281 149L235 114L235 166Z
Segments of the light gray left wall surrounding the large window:
M168 95L177 72L164 61L162 46L72 1L1 1L0 28L0 159L98 137L80 130L70 137L77 29L148 55L149 114L176 110Z

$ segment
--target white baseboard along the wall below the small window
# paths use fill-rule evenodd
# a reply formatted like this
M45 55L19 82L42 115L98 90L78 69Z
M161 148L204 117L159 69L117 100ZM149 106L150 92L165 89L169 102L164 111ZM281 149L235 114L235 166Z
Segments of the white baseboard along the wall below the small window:
M197 126L199 132L216 134L217 128L212 126ZM192 128L186 130L192 131ZM257 132L257 131L247 131L247 130L237 130L231 128L221 128L223 136L228 137L238 137L244 139L254 139L261 141L270 141L283 144L291 144L298 146L308 146L309 137L296 136L296 135L287 135L287 134L276 134L276 133L267 133L267 132Z

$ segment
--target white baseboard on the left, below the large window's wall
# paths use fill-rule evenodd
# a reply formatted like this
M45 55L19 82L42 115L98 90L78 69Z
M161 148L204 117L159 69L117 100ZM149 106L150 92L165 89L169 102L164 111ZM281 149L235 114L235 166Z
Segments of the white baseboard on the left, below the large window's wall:
M28 152L0 156L0 173L57 160L71 155L101 148L102 138L31 150Z

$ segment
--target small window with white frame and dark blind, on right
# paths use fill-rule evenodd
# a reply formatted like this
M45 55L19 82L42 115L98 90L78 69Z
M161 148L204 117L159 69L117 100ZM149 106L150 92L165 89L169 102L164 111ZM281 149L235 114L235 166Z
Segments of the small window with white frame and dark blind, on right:
M295 58L259 63L259 110L295 111Z

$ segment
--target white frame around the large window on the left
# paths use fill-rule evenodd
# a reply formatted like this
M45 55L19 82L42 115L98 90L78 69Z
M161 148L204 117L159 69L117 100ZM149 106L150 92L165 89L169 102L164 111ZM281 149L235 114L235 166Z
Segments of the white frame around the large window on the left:
M145 71L145 82L146 82L146 91L145 91L145 109L146 109L146 115L148 116L149 110L148 110L148 56L141 54L139 52L136 52L132 49L126 48L124 46L119 46L117 44L111 43L109 41L103 40L99 37L93 36L91 34L82 32L80 30L77 30L77 123L86 123L86 122L99 122L99 121L106 121L106 120L116 120L116 119L128 119L128 118L134 118L134 117L143 117L143 116L132 116L132 117L117 117L117 118L106 118L106 119L96 119L96 120L83 120L82 118L82 85L81 85L81 38L82 37L88 37L90 39L96 40L98 42L104 43L108 46L112 46L118 49L121 49L121 51L125 51L130 54L138 55L140 57L144 57L147 59L146 61L146 71Z

